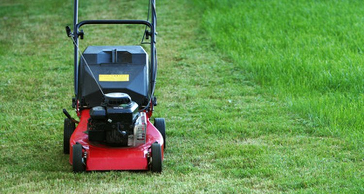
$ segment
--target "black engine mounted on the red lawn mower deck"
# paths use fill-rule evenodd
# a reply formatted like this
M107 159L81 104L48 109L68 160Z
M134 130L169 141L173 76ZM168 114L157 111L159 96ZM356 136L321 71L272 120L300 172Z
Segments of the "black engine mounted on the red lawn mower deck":
M109 146L139 146L146 142L147 116L125 93L105 94L90 110L87 132L91 142Z

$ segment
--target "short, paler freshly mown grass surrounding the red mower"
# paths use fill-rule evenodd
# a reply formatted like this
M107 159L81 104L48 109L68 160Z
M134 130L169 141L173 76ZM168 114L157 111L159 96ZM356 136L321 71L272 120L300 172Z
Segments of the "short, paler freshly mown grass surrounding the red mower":
M143 19L147 4L81 1L80 19ZM73 174L62 150L61 113L70 110L73 94L73 47L64 32L72 23L72 3L0 3L0 193L363 191L360 150L341 138L315 135L314 122L290 113L228 54L214 49L194 4L160 0L157 11L154 116L167 121L163 173ZM143 32L83 30L83 48L138 44Z

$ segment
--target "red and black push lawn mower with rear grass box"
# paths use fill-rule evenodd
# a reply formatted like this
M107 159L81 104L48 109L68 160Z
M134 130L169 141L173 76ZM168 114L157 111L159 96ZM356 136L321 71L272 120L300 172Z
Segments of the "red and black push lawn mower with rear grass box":
M147 20L84 20L78 22L74 0L74 92L72 107L80 119L63 109L64 153L74 172L104 170L162 171L165 119L150 117L157 76L155 0L149 0ZM151 21L149 21L151 18ZM88 46L80 51L84 25L144 25L142 46ZM149 39L148 42L144 40ZM77 127L76 127L77 125Z

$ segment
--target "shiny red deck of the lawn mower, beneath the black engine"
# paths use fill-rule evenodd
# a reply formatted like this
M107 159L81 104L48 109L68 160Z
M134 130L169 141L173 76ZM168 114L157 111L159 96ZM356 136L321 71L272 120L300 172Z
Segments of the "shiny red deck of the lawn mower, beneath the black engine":
M146 144L137 147L109 147L88 141L87 120L89 109L81 112L81 120L70 139L69 163L72 164L72 146L76 142L82 144L87 152L86 170L148 170L147 154L150 146L158 142L162 146L162 160L164 158L163 137L149 121L147 114Z

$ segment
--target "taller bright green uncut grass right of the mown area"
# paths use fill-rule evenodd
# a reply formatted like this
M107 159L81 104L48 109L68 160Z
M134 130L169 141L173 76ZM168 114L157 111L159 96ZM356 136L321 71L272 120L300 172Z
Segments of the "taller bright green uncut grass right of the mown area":
M364 146L364 5L358 0L203 0L204 29L249 79L314 122Z

